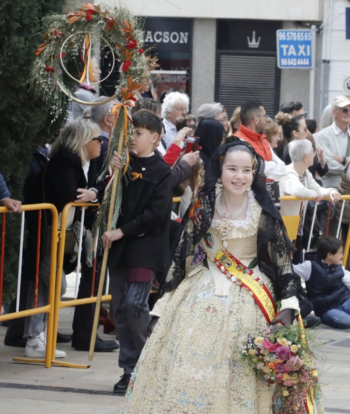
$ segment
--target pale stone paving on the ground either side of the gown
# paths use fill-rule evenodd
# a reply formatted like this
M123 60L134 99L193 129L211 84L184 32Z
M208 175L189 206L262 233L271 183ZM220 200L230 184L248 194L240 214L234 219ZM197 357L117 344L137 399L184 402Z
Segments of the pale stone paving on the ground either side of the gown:
M73 308L60 313L59 331L71 332ZM118 350L95 353L73 350L70 344L58 344L69 362L91 364L89 369L76 369L12 362L23 356L24 349L6 347L6 328L0 326L0 414L119 414L123 397L113 394L122 371L118 368ZM325 413L350 413L350 329L336 330L325 325L313 329L317 334L316 352L323 358L321 382ZM98 334L102 339L114 335ZM142 414L142 413L140 413ZM154 413L160 414L160 413ZM179 414L179 413L174 413ZM214 413L213 413L214 414Z

